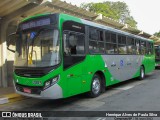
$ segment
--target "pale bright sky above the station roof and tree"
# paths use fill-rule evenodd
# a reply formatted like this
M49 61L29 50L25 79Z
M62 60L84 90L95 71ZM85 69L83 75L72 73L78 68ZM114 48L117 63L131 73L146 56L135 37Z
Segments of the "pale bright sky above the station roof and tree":
M64 0L62 0L64 1ZM139 30L154 34L160 31L160 0L65 0L67 3L80 6L81 3L121 1L125 2L131 16L137 21Z

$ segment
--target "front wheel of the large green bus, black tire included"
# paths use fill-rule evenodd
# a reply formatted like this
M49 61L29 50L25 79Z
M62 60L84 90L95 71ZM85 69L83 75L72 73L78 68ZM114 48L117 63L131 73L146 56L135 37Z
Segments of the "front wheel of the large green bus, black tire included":
M92 78L92 83L91 83L91 90L89 92L89 97L95 98L100 95L101 93L101 78L99 75L95 74Z

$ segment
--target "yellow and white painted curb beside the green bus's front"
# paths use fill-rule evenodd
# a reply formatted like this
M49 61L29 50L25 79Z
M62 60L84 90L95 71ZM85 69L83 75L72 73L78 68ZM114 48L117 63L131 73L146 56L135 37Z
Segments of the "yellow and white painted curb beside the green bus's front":
M16 93L2 95L0 96L0 105L7 104L11 101L21 100L24 98L25 98L24 96L16 94Z

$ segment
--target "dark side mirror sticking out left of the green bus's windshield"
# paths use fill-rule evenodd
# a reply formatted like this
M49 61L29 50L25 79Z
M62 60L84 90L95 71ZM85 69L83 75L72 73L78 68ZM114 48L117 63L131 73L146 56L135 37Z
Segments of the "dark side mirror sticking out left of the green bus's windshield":
M15 53L15 50L9 48L10 45L15 46L15 41L17 38L17 34L16 33L11 33L10 35L8 35L8 40L7 40L7 49L13 53Z

